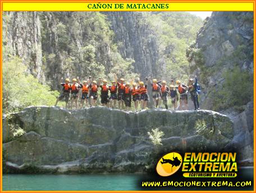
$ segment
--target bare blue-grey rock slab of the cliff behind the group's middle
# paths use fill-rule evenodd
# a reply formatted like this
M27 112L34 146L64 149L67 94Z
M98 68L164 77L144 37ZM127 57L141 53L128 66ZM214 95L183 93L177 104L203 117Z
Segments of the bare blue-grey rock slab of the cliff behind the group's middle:
M115 41L124 58L134 59L135 72L141 79L157 75L158 46L156 34L141 12L107 12Z

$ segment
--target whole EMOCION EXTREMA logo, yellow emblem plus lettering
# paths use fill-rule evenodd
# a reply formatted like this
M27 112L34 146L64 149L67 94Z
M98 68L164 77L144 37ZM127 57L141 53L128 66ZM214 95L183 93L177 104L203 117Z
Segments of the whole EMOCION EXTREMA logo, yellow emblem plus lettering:
M171 152L159 159L156 171L166 177L180 167L184 177L236 177L236 153L187 152L182 159L179 153Z

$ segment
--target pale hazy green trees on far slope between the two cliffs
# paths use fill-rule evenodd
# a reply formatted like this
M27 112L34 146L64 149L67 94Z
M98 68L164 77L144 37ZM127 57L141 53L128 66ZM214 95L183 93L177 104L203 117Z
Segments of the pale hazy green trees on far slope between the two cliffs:
M168 82L171 79L188 81L190 68L185 53L203 26L203 20L186 12L150 12L147 21L157 35L161 56L158 76Z

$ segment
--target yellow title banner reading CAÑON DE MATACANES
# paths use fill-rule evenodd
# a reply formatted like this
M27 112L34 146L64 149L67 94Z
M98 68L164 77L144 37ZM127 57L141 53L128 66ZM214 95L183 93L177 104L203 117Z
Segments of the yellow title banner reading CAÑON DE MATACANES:
M253 2L209 3L50 3L3 2L3 11L253 11Z

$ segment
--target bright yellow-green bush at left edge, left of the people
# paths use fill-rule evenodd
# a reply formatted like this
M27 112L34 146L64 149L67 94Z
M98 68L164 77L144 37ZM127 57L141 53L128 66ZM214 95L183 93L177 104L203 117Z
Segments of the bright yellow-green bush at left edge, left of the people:
M54 105L58 94L30 75L20 58L4 57L3 113L20 111L30 105Z

